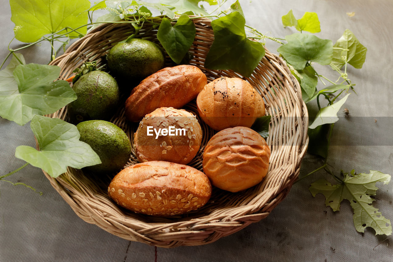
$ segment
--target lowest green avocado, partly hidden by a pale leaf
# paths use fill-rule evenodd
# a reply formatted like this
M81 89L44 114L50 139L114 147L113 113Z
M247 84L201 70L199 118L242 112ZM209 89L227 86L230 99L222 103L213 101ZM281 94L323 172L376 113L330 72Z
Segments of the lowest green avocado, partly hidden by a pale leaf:
M101 164L83 168L97 175L118 172L131 155L131 142L117 125L104 120L89 120L77 124L79 140L89 144L101 159Z

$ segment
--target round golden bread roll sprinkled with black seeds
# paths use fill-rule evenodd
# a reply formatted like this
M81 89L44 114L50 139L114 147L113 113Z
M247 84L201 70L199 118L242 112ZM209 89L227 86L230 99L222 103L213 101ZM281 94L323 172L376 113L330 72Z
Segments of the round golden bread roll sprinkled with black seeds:
M251 127L265 114L262 96L248 82L220 77L208 83L196 98L198 113L211 128Z

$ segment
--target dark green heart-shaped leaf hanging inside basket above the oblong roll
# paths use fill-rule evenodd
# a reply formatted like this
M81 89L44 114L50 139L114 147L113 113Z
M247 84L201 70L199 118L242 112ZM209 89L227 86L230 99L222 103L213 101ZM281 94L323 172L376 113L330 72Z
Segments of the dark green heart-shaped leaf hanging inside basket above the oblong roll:
M195 32L195 24L188 15L179 17L174 26L169 19L162 18L157 38L171 59L180 64L194 42Z

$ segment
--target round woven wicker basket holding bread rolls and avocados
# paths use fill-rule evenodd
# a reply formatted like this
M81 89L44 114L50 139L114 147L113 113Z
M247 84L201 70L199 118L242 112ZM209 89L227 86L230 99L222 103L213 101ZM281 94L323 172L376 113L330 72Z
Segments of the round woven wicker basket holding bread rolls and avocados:
M161 18L156 22L160 22ZM210 20L196 18L196 38L190 52L194 58L190 62L206 74L208 81L219 76L241 77L231 70L208 70L204 60L213 42ZM103 64L103 56L117 42L127 38L134 29L130 24L103 24L92 30L82 39L74 42L64 55L51 65L61 67L60 79L66 79L84 61L98 60ZM156 30L145 23L140 35L157 42ZM167 64L171 66L167 57ZM272 211L288 194L299 175L300 162L307 149L307 109L301 100L298 81L290 74L285 62L266 50L252 76L246 79L263 96L266 114L272 115L267 143L272 154L266 178L259 185L243 192L230 193L213 189L210 201L201 209L170 218L156 218L136 214L117 206L107 195L112 177L90 180L81 170L68 168L68 172L57 179L48 177L51 185L59 192L75 213L88 223L127 240L143 242L158 247L179 245L202 245L214 242L241 230L250 223L257 222ZM127 91L128 92L128 91ZM196 113L195 101L187 106ZM67 120L63 108L50 117ZM202 170L202 153L209 138L215 133L200 119L203 138L198 155L189 164ZM137 125L129 123L120 108L111 122L121 127L133 140ZM137 163L135 151L127 166Z

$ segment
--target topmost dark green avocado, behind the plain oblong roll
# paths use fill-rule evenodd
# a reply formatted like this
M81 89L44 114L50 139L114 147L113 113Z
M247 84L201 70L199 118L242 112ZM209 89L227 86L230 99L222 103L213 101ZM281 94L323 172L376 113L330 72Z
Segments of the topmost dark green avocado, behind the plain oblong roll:
M113 46L108 55L108 68L122 81L141 81L162 69L165 56L158 44L139 38Z

